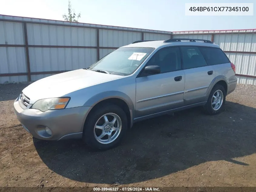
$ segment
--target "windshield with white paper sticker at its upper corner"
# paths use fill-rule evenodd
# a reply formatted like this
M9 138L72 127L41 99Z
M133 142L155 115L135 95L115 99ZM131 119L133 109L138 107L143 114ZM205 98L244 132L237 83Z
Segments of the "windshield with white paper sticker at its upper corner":
M129 75L141 65L153 50L154 48L148 47L119 48L93 64L88 70L105 71L115 75Z

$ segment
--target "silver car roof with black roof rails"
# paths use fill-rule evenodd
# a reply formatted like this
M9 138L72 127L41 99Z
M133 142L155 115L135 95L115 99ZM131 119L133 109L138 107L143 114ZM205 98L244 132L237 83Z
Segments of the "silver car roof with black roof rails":
M129 45L125 45L123 47L152 47L152 48L162 48L168 46L177 46L177 45L187 45L187 46L207 46L207 47L216 47L220 48L219 45L213 43L204 43L204 42L190 42L190 41L181 41L181 42L164 42L162 41L145 41L138 43L131 43Z

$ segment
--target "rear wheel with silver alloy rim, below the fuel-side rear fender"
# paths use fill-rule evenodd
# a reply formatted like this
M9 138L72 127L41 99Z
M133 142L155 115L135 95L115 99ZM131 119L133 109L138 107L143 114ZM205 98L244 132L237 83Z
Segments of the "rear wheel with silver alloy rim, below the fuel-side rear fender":
M220 96L221 98L217 100L213 96L215 97L217 96L217 99L220 98ZM204 106L204 111L209 115L216 115L218 113L221 113L223 106L225 104L225 101L226 101L226 92L224 87L219 84L216 84L211 90L207 103ZM212 105L212 103L214 104Z

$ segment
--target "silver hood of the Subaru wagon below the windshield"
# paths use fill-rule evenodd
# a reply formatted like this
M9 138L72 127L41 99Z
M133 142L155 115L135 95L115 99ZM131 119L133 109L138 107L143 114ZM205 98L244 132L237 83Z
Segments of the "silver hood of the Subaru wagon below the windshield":
M119 75L78 69L40 79L27 86L22 92L29 97L30 104L33 104L39 99L65 96L75 90L121 77Z

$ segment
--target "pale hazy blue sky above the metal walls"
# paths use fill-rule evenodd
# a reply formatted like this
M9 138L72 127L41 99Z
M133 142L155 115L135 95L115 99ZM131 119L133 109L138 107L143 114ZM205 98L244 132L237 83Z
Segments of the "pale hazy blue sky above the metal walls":
M185 16L185 3L254 3L253 16ZM68 0L0 0L0 14L64 20ZM71 0L78 22L161 31L255 29L256 0Z

